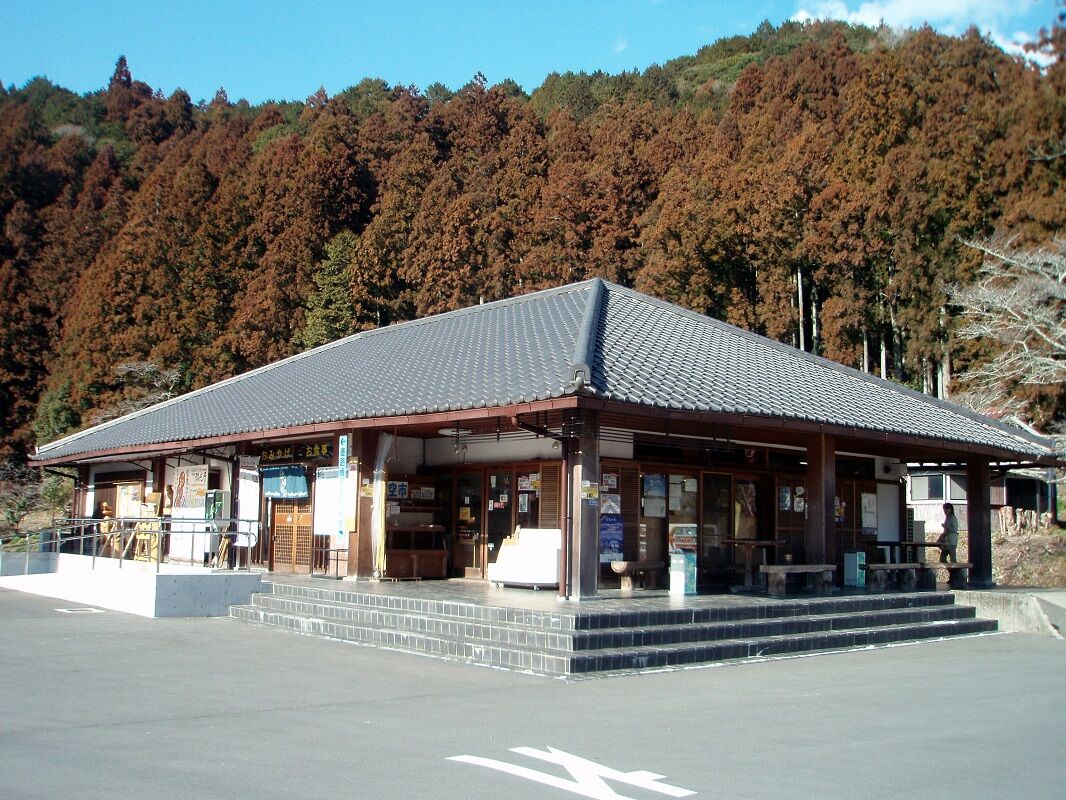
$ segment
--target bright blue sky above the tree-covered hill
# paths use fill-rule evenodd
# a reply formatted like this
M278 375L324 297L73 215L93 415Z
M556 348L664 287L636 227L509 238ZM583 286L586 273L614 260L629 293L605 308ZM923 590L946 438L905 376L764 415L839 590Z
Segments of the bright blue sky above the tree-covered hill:
M102 87L125 53L133 77L193 100L253 103L335 94L365 77L457 89L479 70L527 91L550 71L644 69L769 19L893 27L970 25L1005 48L1048 27L1054 0L0 0L0 81L46 76Z

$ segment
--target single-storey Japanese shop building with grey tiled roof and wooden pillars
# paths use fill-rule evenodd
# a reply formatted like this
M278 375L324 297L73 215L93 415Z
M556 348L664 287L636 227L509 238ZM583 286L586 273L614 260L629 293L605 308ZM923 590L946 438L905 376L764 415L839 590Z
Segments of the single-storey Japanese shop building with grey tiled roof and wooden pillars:
M340 491L350 518L325 533L316 507L344 480L329 469L348 467L345 448L359 490ZM516 525L560 528L562 592L576 596L610 579L601 563L689 547L701 583L728 580L736 559L722 542L745 535L785 542L771 558L842 563L906 535L907 462L965 468L971 494L991 464L1055 463L1027 431L599 279L356 334L35 460L81 466L86 514L136 473L162 494L177 470L207 466L227 515L255 507L255 558L273 569L313 570L313 537L345 543L352 574L387 573L388 558L411 569L399 529L431 526L440 537L406 549L442 553L437 577L484 577ZM285 468L308 481L306 498L285 499L306 499L295 514L310 523L282 537L264 495ZM375 500L388 481L417 498ZM990 544L986 558L975 533L980 581ZM280 551L301 535L311 545Z

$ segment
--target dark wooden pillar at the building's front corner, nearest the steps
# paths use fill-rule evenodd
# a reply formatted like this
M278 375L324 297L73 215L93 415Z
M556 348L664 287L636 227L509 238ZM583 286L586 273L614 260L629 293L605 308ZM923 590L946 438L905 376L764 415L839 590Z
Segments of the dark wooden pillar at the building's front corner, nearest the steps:
M581 435L570 452L569 502L574 516L570 547L570 598L596 595L599 582L599 431L596 416L586 413L581 419ZM584 485L582 485L584 484ZM586 495L593 486L595 500Z

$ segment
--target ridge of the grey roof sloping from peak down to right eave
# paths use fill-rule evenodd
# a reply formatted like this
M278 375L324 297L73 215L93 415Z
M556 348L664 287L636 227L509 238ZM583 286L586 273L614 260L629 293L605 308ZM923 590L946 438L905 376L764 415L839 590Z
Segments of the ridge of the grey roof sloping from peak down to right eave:
M904 397L909 397L911 399L930 403L931 405L935 405L941 409L942 411L947 411L949 413L956 414L960 417L965 417L966 419L969 419L971 422L976 422L979 425L994 428L1000 431L1000 433L1004 433L1008 436L1014 436L1015 438L1021 439L1027 444L1031 445L1035 444L1039 445L1040 447L1053 449L1053 443L1049 437L1033 434L1030 433L1029 431L1016 428L1015 426L1007 425L1006 422L1001 422L998 419L992 419L991 417L985 416L984 414L979 414L978 412L971 409L967 409L964 405L959 405L958 403L953 403L949 400L941 400L940 398L918 391L916 389L910 388L909 386L897 383L895 381L890 381L885 378L879 378L877 375L863 372L859 369L856 369L855 367L849 367L846 364L840 364L839 362L831 361L829 358L826 358L825 356L817 355L815 353L808 353L806 350L800 350L798 348L786 345L782 341L777 341L776 339L772 339L769 336L762 336L761 334L757 334L753 331L745 331L743 327L738 327L737 325L730 324L729 322L715 319L714 317L709 317L706 314L694 311L691 308L685 308L684 306L680 306L676 303L671 303L669 301L662 300L660 298L656 298L650 294L645 294L644 292L636 291L635 289L630 289L628 287L620 286L618 284L612 284L610 282L608 282L608 287L611 290L615 289L621 290L623 292L629 294L630 297L639 299L643 302L650 301L651 303L661 306L666 310L673 311L674 314L678 314L684 317L690 317L699 320L705 324L710 324L718 329L724 329L726 331L732 332L734 335L740 336L741 338L746 339L748 341L752 341L755 345L759 345L762 347L770 347L771 349L776 350L778 352L791 355L793 357L800 357L817 366L821 366L830 369L833 371L840 372L852 380L873 383L875 385L881 386L882 388L887 388L891 391L903 395Z

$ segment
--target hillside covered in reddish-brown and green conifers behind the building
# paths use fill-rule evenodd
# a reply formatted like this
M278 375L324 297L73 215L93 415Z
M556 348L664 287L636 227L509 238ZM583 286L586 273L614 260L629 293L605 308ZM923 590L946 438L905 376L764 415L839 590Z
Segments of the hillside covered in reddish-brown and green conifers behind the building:
M991 355L953 337L965 242L1066 224L1061 30L1044 71L976 32L764 23L530 96L195 105L125 59L86 96L0 87L2 447L591 276L940 390Z

